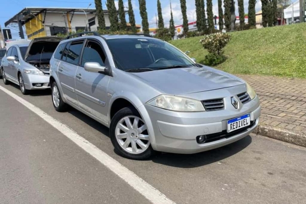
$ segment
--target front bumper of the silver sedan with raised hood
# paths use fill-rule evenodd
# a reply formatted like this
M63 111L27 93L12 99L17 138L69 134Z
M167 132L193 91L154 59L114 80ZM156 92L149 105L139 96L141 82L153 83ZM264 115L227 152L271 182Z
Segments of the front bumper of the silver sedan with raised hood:
M49 89L49 75L34 75L22 73L25 89L37 90L37 89ZM41 87L36 87L33 84L42 84Z

